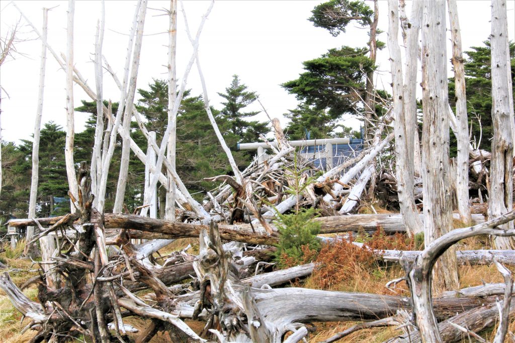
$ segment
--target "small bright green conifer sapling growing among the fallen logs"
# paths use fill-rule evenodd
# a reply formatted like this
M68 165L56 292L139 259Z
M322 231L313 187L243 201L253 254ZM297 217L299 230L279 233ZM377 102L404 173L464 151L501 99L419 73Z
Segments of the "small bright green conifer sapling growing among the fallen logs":
M311 250L320 250L320 242L317 238L320 223L313 221L315 217L314 208L303 208L291 214L278 214L276 225L279 230L279 244L277 244L275 259L280 267L307 262L304 259L302 246L308 246Z

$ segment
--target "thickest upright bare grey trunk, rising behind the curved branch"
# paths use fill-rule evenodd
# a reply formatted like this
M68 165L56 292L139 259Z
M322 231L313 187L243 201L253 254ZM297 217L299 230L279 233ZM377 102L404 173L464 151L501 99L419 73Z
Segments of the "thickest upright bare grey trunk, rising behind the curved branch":
M424 1L422 25L422 167L424 240L426 246L453 229L449 177L449 116L447 113L447 53L445 2ZM447 290L458 288L454 249L445 251L435 268L436 282Z

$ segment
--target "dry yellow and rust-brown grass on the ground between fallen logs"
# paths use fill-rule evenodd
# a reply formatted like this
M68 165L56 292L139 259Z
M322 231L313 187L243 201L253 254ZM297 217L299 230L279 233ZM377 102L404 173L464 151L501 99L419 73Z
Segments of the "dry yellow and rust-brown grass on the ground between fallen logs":
M456 223L456 226L459 226L459 223ZM370 240L371 238L364 237L363 239ZM381 244L384 243L382 241L387 241L388 244L392 244L391 241L393 240L391 237L379 237L376 239L379 240L379 242L373 242L371 244L378 245L378 248L381 248ZM397 239L400 241L396 244L407 244L406 247L408 247L409 244L412 244L404 238ZM181 249L189 243L191 243L193 247L188 250L188 252L195 254L195 250L198 249L198 245L196 245L197 240L195 239L178 240L172 245L162 249L160 254L164 256L170 251ZM23 284L27 279L37 275L31 270L32 267L36 269L37 266L32 266L32 262L30 260L20 258L23 247L23 243L19 244L14 250L12 250L9 245L0 247L0 261L9 266L9 269L11 270L9 274L11 275L14 283L18 286ZM459 249L484 248L490 248L487 237L468 239L460 242L459 246ZM338 259L340 257L343 258ZM314 273L311 277L302 281L296 281L291 283L291 285L345 292L408 295L406 285L403 283L399 285L401 289L397 293L392 293L384 286L389 280L403 275L403 271L399 266L380 265L369 257L370 256L363 256L363 251L354 249L347 245L336 249L327 249L327 251L322 250L319 259L333 261L333 269L325 271L320 270L319 272ZM497 272L497 269L494 266L464 265L460 266L459 274L461 287L479 285L483 282L503 282L501 275ZM404 290L402 290L403 287ZM23 292L30 299L36 299L37 290L35 286L28 287ZM33 332L28 330L24 334L20 333L28 323L28 320L24 320L22 323L21 318L21 314L13 308L5 294L0 291L0 342L25 343L30 340L33 336ZM143 320L137 317L128 317L124 321L135 328L140 329L140 331L145 329L149 323L148 320ZM196 332L200 332L204 326L204 323L198 321L186 320L186 323ZM316 324L318 329L315 333L311 334L310 337L310 341L313 342L327 339L340 331L352 327L356 322L327 322ZM495 329L496 328L493 328L483 332L482 336L488 341L492 341L495 335ZM515 331L515 321L511 322L510 331ZM382 342L396 336L398 333L399 332L394 328L361 330L341 339L339 342ZM170 337L167 333L161 333L151 340L152 343L165 343L170 341ZM468 341L468 339L464 340L464 342L465 341ZM506 341L509 342L511 340L507 337Z

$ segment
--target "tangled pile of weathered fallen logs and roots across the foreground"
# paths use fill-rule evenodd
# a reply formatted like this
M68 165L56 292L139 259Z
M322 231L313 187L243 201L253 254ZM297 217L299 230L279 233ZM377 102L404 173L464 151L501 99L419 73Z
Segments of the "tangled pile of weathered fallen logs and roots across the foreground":
M444 250L477 234L515 235L513 230L496 228L512 221L515 212L487 222L483 215L473 215L474 226L451 231L424 251L372 250L378 260L401 264L411 297L276 288L310 275L317 266L310 263L258 274L263 270L262 262L270 262L273 246L278 243L277 226L271 223L273 215L295 206L330 209L330 204L342 196L342 190L357 175L348 173L360 164L363 167L363 159L370 154L365 152L361 159L355 158L350 169L350 164L340 166L340 170L348 170L334 173L336 182L326 172L323 179L298 188L299 180L305 182L307 173L313 171L296 165L293 153L285 142L264 166L244 172L241 183L230 176L217 177L228 185L220 186L219 192L210 196L211 208L205 205L211 212L209 224L205 224L206 219L195 221L191 217L180 222L136 214L99 213L92 207L92 196L86 196L90 194L88 183L79 178L81 198L75 202L75 213L9 222L12 227L37 226L40 233L33 241L54 237L57 246L50 260L41 262L38 277L20 289L4 273L0 288L30 320L24 330L36 330L34 342L65 341L79 335L98 342L131 341L127 333L135 329L124 322L127 316L151 320L136 342L147 342L160 331L168 332L173 341L296 342L315 330L315 322L343 320L363 323L328 341L379 326L398 326L403 330L392 341L414 342L421 336L433 337L435 332L440 341L453 341L462 337L463 330L469 334L478 332L499 321L500 313L505 318L515 311L515 306L507 305L511 297L509 276L506 285L464 288L438 298L431 295L431 270ZM282 166L289 168L289 179ZM291 171L293 168L304 171L296 178L291 176L296 173ZM348 181L344 183L342 179ZM281 192L285 194L284 201L280 201ZM264 197L267 201L263 201ZM342 202L345 204L345 198ZM221 221L227 224L215 223ZM379 227L387 234L405 231L399 214L333 215L315 221L321 224L321 234L372 233ZM178 238L199 238L199 254L193 256L183 249L163 258L156 256L156 251ZM135 244L135 239L142 243ZM496 263L504 275L508 272L501 263L515 265L513 250L463 250L457 251L457 258L467 264ZM185 280L190 281L184 283ZM39 302L21 292L34 283L38 285ZM145 291L145 295L139 295L140 291ZM506 320L502 318L504 328ZM195 333L185 319L204 321L202 333Z

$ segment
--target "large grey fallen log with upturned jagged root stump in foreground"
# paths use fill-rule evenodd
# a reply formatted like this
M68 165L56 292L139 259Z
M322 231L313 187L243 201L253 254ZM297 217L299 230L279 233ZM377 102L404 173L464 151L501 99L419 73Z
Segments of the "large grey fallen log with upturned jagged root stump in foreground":
M213 244L208 233L205 230L202 232L201 242L203 239L206 243L201 243L200 260L196 262L195 269L201 283L205 286L201 287L200 293L179 296L171 303L175 304L175 310L185 318L195 318L198 314L203 313L201 310L204 306L211 308L211 311L220 315L220 322L224 323L222 330L227 333L225 338L228 340L255 341L253 334L247 336L241 331L244 326L249 328L252 325L254 330L265 327L266 330L258 333L268 337L271 341L277 341L277 335L291 330L289 327L291 323L386 318L392 316L397 310L410 308L406 298L397 296L318 291L305 288L246 288L242 281L239 281L231 272L227 265L228 262L223 261L227 259L223 250L217 248L217 252L214 252L213 249L216 245L221 243ZM219 241L219 236L215 232L211 231L209 236L215 237L215 240ZM202 299L206 299L205 294L208 292L210 295L207 299L211 300L209 302L202 301ZM201 300L200 308L195 306L198 299ZM306 299L310 299L310 306L301 306L301 304L305 304ZM455 315L454 311L460 313L492 301L494 301L494 297L445 298L435 299L433 305L435 312L439 313L439 318L444 319ZM230 310L220 313L217 309L221 308ZM249 316L249 314L251 315ZM203 314L203 318L207 319L205 316L208 316L207 312ZM245 316L249 319L246 320Z

